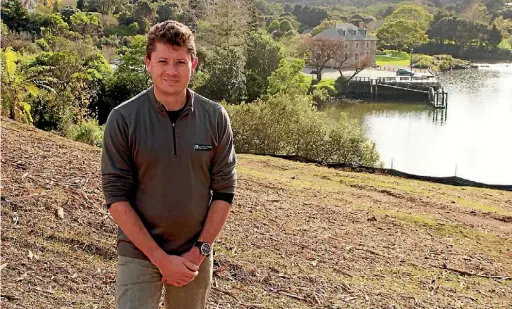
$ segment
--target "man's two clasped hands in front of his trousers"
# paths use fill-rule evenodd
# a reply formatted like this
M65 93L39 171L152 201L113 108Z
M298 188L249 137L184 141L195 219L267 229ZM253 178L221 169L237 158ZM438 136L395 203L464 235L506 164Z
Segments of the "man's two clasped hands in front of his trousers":
M204 260L199 248L192 247L181 256L168 255L156 265L162 274L162 282L175 287L189 284L199 274L199 266Z

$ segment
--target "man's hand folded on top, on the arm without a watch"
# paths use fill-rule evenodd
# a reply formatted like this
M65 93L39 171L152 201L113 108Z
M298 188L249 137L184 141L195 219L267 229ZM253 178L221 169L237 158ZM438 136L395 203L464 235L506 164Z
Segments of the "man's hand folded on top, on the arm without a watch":
M199 274L199 266L177 255L167 255L157 265L162 274L162 282L181 287Z

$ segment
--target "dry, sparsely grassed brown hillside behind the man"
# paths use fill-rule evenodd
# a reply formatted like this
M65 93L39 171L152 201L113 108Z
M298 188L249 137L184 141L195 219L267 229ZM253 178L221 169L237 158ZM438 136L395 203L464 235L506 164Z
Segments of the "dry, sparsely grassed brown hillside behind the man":
M2 308L113 308L100 149L2 118ZM512 193L239 155L209 308L511 308Z

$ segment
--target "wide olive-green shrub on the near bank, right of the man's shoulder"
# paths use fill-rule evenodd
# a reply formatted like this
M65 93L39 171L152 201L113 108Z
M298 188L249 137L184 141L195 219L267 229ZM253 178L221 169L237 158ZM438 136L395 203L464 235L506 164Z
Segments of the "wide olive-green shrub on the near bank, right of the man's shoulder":
M344 114L336 121L308 96L278 94L250 104L225 105L237 152L299 155L324 162L379 166L375 144Z

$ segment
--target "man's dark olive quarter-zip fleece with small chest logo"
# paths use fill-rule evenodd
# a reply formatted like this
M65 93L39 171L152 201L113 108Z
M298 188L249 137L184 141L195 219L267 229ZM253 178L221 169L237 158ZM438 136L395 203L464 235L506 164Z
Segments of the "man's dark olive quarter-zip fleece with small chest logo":
M153 87L108 117L101 160L106 203L129 201L169 254L186 252L197 240L212 191L235 192L235 164L225 109L191 90L175 125ZM117 251L147 260L121 229Z

